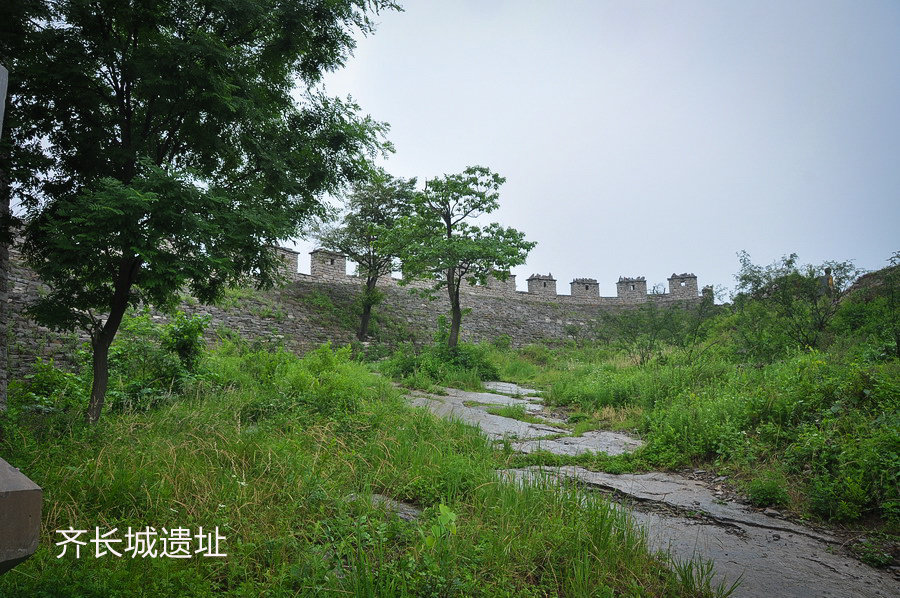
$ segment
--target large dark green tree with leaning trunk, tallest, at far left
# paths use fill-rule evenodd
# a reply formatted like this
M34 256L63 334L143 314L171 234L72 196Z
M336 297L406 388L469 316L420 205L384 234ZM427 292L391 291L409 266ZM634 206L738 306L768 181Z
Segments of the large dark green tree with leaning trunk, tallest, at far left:
M6 3L4 3L6 4ZM12 3L16 5L17 3ZM23 3L22 6L26 6ZM314 90L388 0L58 0L16 19L9 129L32 314L91 338L96 421L129 306L202 301L362 176L386 126ZM297 84L305 88L295 99ZM5 135L4 135L5 136Z

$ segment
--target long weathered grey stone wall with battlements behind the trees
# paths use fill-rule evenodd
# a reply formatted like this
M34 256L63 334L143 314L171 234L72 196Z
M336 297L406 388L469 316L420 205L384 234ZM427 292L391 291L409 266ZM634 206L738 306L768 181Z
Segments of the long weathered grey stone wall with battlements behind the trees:
M284 274L289 279L283 287L265 293L242 294L239 300L221 306L198 305L196 301L187 300L180 309L188 314L209 315L210 339L215 337L217 329L227 328L248 340L275 342L296 352L307 351L327 341L336 345L352 342L354 330L330 321L313 306L315 302L309 301L310 295L323 294L335 306L349 308L360 293L363 281L346 274L346 258L322 250L314 251L310 274L301 274L297 271L296 252L282 249L279 253L285 263ZM635 282L623 283L631 280ZM534 285L535 292L517 291L512 275L505 281L491 278L484 286L465 285L462 303L464 308L471 309L471 313L463 318L462 338L482 341L505 334L514 346L521 346L541 339L566 338L573 329L586 332L597 325L603 312L611 309L635 307L647 301L674 304L699 299L696 277L692 274L673 275L670 292L661 295L647 295L646 282L641 286L640 280L643 279L622 279L617 287L621 284L625 287L616 297L601 297L597 281L584 278L572 281L571 295L557 295L556 281L550 275L530 277L529 288ZM635 285L634 289L630 288L631 284ZM41 286L40 280L23 266L21 256L13 248L6 303L10 339L8 369L12 379L27 373L38 356L52 358L63 365L71 364L76 350L87 340L83 334L54 333L25 317L26 305L37 297ZM409 286L423 288L426 285L417 282ZM384 301L376 310L404 325L420 342L428 342L431 338L437 315L449 312L445 293L437 293L432 301L410 293L408 287L400 286L397 280L389 277L384 277L380 287ZM157 314L154 318L163 321L166 316Z

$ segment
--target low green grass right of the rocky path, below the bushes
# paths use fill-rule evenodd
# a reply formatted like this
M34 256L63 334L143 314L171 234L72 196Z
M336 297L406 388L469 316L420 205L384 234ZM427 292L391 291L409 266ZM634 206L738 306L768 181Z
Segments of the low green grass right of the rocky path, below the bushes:
M670 348L646 365L602 347L489 356L504 379L537 385L569 410L575 433L639 434L646 466L727 470L757 504L835 521L875 516L896 529L900 362L838 348L753 366L727 347L702 359Z

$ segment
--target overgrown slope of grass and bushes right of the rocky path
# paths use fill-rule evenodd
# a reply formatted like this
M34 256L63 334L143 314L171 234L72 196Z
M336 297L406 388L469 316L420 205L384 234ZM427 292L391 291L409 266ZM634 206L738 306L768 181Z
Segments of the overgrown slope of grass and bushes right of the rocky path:
M806 284L801 278L809 282L815 274L809 272L771 279L796 282L800 287L781 289L796 290ZM574 411L576 429L627 426L641 435L645 447L631 466L731 470L756 504L834 521L874 518L896 529L900 362L891 343L894 272L867 275L842 296L818 336L822 349L799 346L787 325L785 305L791 303L763 285L733 306L711 310L696 333L673 325L672 334L657 337L654 357L643 364L627 344L614 341L617 331L609 345L493 347L488 357L501 379L543 388L551 405ZM802 296L795 300L796 307ZM810 331L813 320L803 318L814 309L793 312ZM632 317L634 336L650 335L659 323ZM554 463L549 456L531 459ZM620 470L623 463L592 465Z

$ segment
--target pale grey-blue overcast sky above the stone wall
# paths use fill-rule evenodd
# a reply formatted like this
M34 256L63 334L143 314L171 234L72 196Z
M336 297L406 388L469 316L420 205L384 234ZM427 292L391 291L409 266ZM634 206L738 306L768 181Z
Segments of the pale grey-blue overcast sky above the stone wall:
M395 176L481 164L532 272L615 295L900 250L900 2L407 0L326 80ZM298 243L304 253L310 243ZM308 272L307 256L301 270Z

